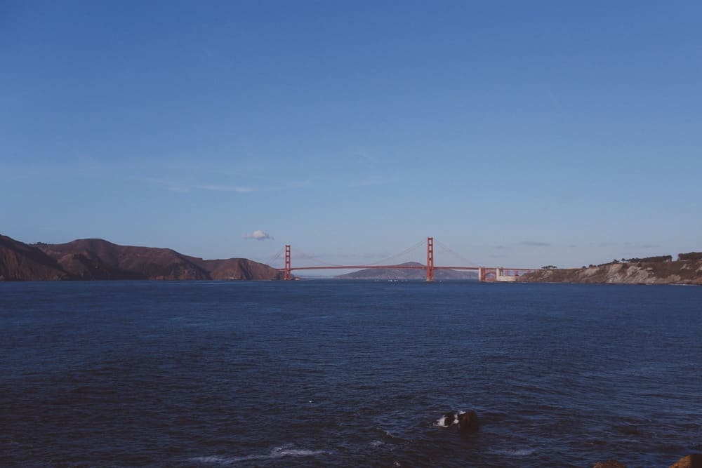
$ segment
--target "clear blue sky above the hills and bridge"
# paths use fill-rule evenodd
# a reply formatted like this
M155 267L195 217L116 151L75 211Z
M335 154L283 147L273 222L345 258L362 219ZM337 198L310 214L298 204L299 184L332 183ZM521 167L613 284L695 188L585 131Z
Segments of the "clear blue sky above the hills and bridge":
M328 262L426 236L482 265L702 250L700 25L699 1L5 0L0 233Z

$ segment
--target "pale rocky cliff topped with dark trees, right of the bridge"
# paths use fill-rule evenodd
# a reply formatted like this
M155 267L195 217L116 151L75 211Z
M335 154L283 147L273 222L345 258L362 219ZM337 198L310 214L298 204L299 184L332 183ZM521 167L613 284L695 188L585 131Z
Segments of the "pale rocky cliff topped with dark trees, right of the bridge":
M534 283L621 283L702 285L702 253L615 261L583 268L541 269L519 281Z

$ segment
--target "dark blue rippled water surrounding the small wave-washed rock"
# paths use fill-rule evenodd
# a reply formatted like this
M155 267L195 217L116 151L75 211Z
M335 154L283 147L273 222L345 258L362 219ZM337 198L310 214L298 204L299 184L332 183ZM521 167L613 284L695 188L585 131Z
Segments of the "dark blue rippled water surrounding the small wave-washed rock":
M477 434L437 426L474 409ZM0 283L0 464L667 467L702 288Z

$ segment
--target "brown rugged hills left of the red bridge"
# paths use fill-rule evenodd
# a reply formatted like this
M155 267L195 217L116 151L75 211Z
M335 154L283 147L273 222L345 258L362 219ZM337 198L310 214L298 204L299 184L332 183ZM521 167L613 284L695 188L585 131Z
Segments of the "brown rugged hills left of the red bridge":
M246 258L203 260L170 248L119 246L103 239L34 246L0 236L0 277L55 279L282 279L268 265Z

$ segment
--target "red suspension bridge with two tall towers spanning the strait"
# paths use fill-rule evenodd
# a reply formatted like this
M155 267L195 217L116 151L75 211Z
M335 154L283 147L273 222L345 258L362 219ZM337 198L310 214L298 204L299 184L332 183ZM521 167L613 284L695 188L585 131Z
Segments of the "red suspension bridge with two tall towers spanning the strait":
M399 255L404 255L405 253L409 252L410 250L413 250L414 248L416 248L422 242L423 241L420 241L419 243L415 244L414 246L407 248L406 250L403 250L402 253L399 253L397 255L392 255L392 257L390 257L390 258L396 258ZM443 244L442 244L442 247L446 248L446 250L449 250L451 253L453 253L454 255L461 258L460 255L453 252L453 250L444 246ZM280 255L282 255L282 253L278 253L275 258L279 257ZM275 258L273 260L275 260ZM468 260L465 260L463 258L461 258L461 259L470 263L470 261L468 261ZM319 259L317 259L317 260L319 260ZM324 262L320 261L320 263L324 263ZM536 268L476 267L476 266L472 266L472 265L452 266L452 267L437 266L437 265L435 265L435 262L434 262L434 238L433 237L427 238L427 261L426 261L425 265L376 265L376 264L370 264L370 265L330 265L330 264L325 264L325 265L294 266L293 267L291 246L290 246L290 244L286 244L286 246L285 246L285 265L283 268L278 268L277 270L279 272L283 273L284 280L289 281L289 280L293 279L293 271L296 271L296 270L320 270L320 269L423 269L426 272L426 281L434 281L435 271L442 270L442 269L474 271L474 272L477 272L479 281L517 281L519 274L524 274L527 272L536 271Z

